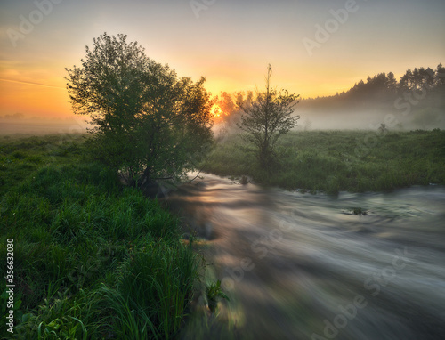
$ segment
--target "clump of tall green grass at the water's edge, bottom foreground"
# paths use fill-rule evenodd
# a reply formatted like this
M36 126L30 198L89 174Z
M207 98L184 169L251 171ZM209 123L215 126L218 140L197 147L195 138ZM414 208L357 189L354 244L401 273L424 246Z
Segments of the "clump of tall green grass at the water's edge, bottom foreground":
M150 242L134 252L117 270L116 287L101 287L99 303L113 306L117 338L170 338L180 328L178 316L191 301L198 261L191 246Z

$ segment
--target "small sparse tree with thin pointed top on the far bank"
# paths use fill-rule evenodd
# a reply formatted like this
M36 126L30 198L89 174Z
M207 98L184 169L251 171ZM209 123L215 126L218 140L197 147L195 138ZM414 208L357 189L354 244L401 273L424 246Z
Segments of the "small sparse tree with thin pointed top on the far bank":
M253 101L237 101L243 111L239 128L247 142L255 147L263 169L270 170L275 143L279 136L296 126L299 116L293 116L299 95L271 88L271 64L267 69L266 91L255 93Z

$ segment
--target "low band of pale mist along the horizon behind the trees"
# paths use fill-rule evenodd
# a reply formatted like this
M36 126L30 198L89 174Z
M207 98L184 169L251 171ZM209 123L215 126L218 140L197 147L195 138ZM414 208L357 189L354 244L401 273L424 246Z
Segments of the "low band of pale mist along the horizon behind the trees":
M214 133L220 134L228 128L231 132L238 130L236 122L240 112L231 119L217 121ZM329 109L296 109L299 115L296 131L311 130L376 130L384 124L389 131L445 129L445 110L420 109L408 114L397 111L379 109L363 109L356 111ZM50 119L8 115L0 117L0 134L67 134L84 133L89 125L76 117L66 119Z

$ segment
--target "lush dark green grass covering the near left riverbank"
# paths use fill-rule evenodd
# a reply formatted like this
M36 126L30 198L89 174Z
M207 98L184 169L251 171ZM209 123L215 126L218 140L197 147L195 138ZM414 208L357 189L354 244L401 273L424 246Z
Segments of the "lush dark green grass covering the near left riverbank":
M12 239L15 285L10 308L0 281L0 338L171 338L200 258L178 220L85 159L82 141L0 137L0 263Z

